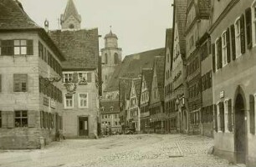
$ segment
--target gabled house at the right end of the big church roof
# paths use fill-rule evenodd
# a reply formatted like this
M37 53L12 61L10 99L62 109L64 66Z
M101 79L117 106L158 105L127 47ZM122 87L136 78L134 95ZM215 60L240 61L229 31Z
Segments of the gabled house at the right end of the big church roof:
M164 56L156 56L151 75L150 93L150 128L151 131L164 133L164 123L166 119L164 110Z

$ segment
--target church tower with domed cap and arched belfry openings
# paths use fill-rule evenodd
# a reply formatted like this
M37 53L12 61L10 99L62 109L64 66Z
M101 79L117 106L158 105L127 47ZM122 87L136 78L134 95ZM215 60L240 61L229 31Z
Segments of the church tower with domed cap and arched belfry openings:
M117 40L115 33L110 30L110 33L105 35L105 48L101 49L103 92L115 71L115 67L121 63L122 49L118 48Z

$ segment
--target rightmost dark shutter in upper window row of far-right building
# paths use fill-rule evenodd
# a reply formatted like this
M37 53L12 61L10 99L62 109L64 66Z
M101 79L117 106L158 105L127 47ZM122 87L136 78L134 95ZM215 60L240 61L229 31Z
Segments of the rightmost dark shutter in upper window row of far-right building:
M251 8L247 8L245 10L245 22L246 22L247 48L250 49L253 46L253 42L252 42L252 9Z

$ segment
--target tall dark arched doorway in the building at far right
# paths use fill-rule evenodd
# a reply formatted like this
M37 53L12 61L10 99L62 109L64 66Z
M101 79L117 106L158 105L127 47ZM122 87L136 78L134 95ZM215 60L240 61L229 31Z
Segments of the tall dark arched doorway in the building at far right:
M242 94L238 94L235 101L235 154L238 164L245 164L246 158L246 123L245 106Z

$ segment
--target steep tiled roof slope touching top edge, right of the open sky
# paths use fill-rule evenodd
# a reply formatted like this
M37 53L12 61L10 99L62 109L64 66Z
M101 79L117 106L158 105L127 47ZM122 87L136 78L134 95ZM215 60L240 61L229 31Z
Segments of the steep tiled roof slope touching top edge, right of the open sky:
M187 13L187 0L174 0L175 16L177 18L177 28L179 33L179 43L182 55L186 53L186 13Z

